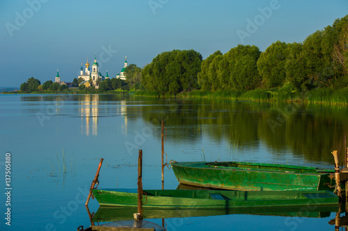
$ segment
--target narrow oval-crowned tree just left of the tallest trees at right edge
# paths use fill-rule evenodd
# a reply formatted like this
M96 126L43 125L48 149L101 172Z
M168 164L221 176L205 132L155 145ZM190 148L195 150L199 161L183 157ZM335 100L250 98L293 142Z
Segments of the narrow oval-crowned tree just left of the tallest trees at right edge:
M258 71L266 87L280 87L285 83L285 63L289 55L285 42L274 42L260 54Z

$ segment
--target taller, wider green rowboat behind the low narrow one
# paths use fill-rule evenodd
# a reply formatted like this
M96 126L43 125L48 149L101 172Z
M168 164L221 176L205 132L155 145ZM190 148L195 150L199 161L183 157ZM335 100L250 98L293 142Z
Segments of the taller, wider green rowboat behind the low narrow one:
M334 169L248 162L171 163L180 184L241 191L331 190Z

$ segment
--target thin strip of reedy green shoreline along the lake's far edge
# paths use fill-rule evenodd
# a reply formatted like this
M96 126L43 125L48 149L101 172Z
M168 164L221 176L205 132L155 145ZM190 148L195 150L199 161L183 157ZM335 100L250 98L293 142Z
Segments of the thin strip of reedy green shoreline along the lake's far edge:
M1 92L1 94L134 94L135 96L153 97L163 99L232 99L242 101L268 102L268 103L316 103L324 105L348 105L348 87L344 89L314 89L306 94L296 94L294 92L281 92L278 89L255 89L251 91L241 90L219 90L204 91L193 90L191 92L180 92L175 95L161 95L157 91L138 90L129 91L107 91L97 90L81 91L73 90L67 92Z

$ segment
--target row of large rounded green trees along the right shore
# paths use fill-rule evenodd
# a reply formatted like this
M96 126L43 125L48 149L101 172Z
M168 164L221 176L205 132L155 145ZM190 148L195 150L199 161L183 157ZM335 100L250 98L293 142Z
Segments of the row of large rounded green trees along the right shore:
M276 41L263 52L241 45L200 53L167 51L157 55L141 74L145 89L176 94L191 89L271 89L290 86L297 92L348 85L348 15L316 31L302 43Z

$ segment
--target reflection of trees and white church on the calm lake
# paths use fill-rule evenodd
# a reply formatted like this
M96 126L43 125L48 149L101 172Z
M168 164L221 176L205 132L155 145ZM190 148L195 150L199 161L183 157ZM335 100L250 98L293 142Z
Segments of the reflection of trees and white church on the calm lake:
M226 145L230 158L244 147L248 148L248 153L262 148L283 163L293 156L313 165L323 162L331 165L331 151L336 149L343 160L343 137L348 130L347 107L338 106L144 99L128 94L34 95L22 96L21 100L26 105L52 101L51 109L26 109L33 114L38 110L58 116L79 114L81 133L86 136L98 135L101 117L122 116L122 135L127 137L128 124L141 118L156 128L152 130L154 136L159 137L157 128L163 119L171 134L168 142L192 145L209 140Z

